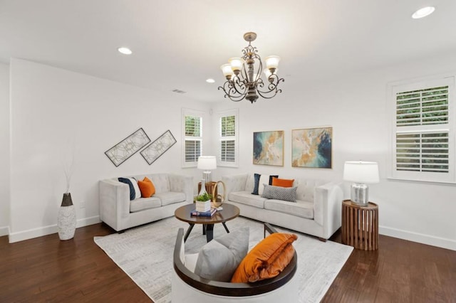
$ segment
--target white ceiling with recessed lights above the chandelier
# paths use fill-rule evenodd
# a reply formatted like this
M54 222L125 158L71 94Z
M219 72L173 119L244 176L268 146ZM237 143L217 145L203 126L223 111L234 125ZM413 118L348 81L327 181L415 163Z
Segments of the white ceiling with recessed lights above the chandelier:
M410 18L429 5L434 14ZM221 102L219 66L241 55L247 31L262 58L281 56L289 86L454 52L455 28L454 0L0 0L0 61Z

